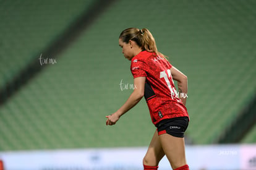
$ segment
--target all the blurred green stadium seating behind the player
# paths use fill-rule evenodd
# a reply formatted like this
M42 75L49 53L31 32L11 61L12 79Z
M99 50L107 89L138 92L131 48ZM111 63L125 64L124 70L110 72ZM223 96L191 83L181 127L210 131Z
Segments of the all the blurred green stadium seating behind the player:
M0 88L91 3L4 1ZM113 127L105 125L132 92L130 62L118 46L128 27L148 28L187 75L186 135L195 144L213 143L255 94L255 7L256 1L238 0L114 2L58 58L42 54L56 63L41 66L1 106L0 150L147 146L155 127L145 100ZM255 134L254 126L242 142L255 142Z

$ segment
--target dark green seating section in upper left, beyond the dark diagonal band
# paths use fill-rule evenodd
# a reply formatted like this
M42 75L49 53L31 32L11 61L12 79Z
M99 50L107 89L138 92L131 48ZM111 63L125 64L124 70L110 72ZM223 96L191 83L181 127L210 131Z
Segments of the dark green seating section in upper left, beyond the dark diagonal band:
M74 1L72 4L70 1L2 1L0 88L34 55L39 58L40 50L55 40L90 4L92 1Z

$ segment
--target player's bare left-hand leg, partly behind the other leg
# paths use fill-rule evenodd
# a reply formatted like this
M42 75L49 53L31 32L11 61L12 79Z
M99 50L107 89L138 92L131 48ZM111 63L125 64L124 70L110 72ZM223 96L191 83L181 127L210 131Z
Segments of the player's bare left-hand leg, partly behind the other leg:
M147 153L143 158L143 164L148 166L158 166L158 163L164 156L164 151L161 146L160 138L158 136L157 130L153 135L153 138L148 147Z

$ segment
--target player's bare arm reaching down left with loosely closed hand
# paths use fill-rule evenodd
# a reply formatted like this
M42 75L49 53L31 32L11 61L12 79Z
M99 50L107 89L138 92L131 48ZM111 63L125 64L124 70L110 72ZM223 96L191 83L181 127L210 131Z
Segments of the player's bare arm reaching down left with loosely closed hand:
M124 105L121 106L115 113L106 116L106 125L114 125L123 114L133 108L144 96L146 77L137 77L134 79L134 91L129 96Z

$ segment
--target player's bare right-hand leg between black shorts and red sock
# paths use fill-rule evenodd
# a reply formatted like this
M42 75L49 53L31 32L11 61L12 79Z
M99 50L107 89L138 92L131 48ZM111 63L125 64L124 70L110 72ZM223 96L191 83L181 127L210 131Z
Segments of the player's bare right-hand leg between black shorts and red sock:
M184 138L174 137L169 134L162 134L159 137L163 151L173 169L187 164Z

